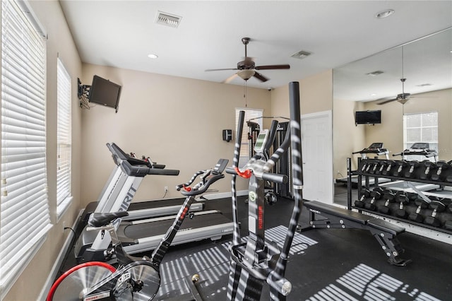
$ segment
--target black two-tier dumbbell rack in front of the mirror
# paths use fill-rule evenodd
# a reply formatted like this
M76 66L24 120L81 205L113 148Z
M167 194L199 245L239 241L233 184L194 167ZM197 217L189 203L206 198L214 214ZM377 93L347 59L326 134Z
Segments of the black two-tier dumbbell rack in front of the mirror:
M428 164L427 165L420 164L417 165L417 168L415 170L410 170L411 166L408 164L409 162L410 161L403 160L362 159L359 161L358 169L351 170L351 158L347 158L347 208L349 210L354 208L360 212L365 211L378 216L383 216L391 218L393 220L400 220L405 223L417 225L422 228L429 228L439 232L452 234L452 199L448 197L441 200L441 203L444 203L445 205L444 211L434 212L434 217L441 223L439 227L434 227L432 225L427 225L425 223L418 223L415 220L410 220L408 216L406 218L400 218L400 216L396 216L394 214L384 214L379 211L369 210L369 208L361 208L355 206L355 203L353 202L354 200L352 200L352 182L351 182L352 176L358 177L357 192L359 197L362 196L362 192L364 192L363 191L364 189L369 189L370 178L375 178L374 189L376 189L376 187L379 187L378 178L391 179L391 181L407 181L415 183L434 184L438 185L439 187L452 187L452 165L442 170L441 177L435 180L432 179L432 174L434 174L438 170L438 168L436 167L436 163L432 163L432 165L430 165L431 171L427 170L428 174L426 175L426 168ZM388 163L392 163L391 168L388 168ZM368 166L371 166L371 168L367 168ZM409 175L409 177L405 177L405 175ZM436 177L438 176L436 175L434 178ZM364 185L362 184L363 179L365 183ZM387 189L391 188L387 187ZM425 194L427 194L427 196L429 195L428 192ZM413 196L413 194L410 193L410 196ZM381 206L383 203L385 203L385 200L379 199L377 201L374 201L374 203L376 204L376 206ZM389 203L388 206L391 206L391 212L395 212L399 204L400 202L398 201ZM415 203L414 197L412 197L410 198L410 201L408 201L405 204L404 210L407 211L408 214L415 213L418 207L419 206ZM431 217L433 211L434 210L432 208L422 208L420 210L420 214L424 217L428 216Z

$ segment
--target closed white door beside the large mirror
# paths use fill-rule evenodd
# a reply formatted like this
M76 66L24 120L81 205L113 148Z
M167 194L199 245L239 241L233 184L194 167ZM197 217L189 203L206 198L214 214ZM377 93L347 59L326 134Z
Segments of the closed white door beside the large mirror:
M303 199L333 203L331 111L302 115Z

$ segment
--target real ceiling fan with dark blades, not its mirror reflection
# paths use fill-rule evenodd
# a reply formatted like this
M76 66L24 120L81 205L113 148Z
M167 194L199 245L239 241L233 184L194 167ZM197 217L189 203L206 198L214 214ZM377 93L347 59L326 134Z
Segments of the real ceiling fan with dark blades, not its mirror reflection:
M269 70L269 69L290 69L290 65L266 65L266 66L255 66L254 61L251 57L246 56L246 45L248 45L251 39L249 37L242 37L243 45L245 45L245 59L237 63L237 68L232 69L208 69L206 71L220 71L220 70L238 70L237 73L227 78L223 83L229 83L235 77L239 76L244 81L248 81L249 78L255 77L259 81L266 82L268 78L258 73L257 70Z

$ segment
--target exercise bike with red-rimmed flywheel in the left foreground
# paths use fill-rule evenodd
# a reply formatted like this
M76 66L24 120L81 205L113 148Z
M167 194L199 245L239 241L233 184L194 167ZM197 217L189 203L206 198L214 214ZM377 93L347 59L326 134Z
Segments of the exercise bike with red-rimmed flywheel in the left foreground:
M74 266L55 281L49 290L47 301L152 300L160 288L160 263L184 218L189 213L191 203L195 196L203 194L211 184L225 177L222 172L227 163L227 159L221 159L213 169L198 171L189 182L176 187L182 195L186 196L186 199L177 213L174 223L162 237L150 258L130 256L124 251L118 239L113 223L117 223L117 219L127 216L129 213L120 211L91 214L88 220L88 225L90 225L88 230L109 232L119 268L116 269L114 266L100 261L85 262ZM201 176L201 181L194 187L190 187L198 176ZM189 300L200 300L198 293L191 295Z

